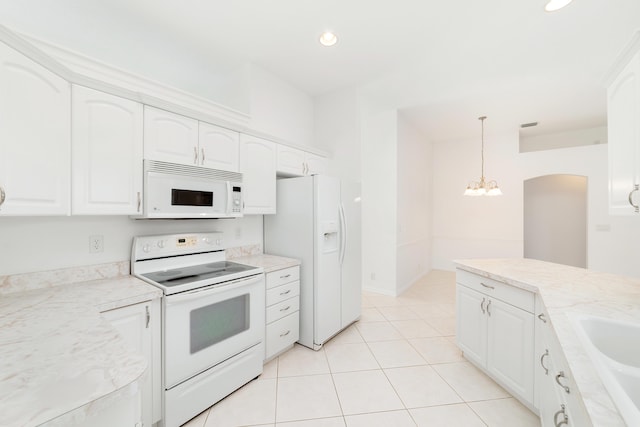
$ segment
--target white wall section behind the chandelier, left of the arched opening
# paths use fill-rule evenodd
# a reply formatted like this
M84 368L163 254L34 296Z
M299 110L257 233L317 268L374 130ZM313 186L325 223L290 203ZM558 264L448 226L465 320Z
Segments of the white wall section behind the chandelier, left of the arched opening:
M480 137L433 144L434 269L452 269L456 258L522 256L522 179L518 135L485 135L485 176L498 181L500 197L463 196L480 179ZM517 178L516 178L517 177Z

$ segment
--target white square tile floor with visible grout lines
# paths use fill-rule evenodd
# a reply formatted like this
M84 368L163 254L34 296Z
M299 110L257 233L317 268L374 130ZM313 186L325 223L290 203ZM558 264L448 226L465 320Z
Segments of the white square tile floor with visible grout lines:
M362 299L360 320L320 351L296 345L185 426L540 426L457 349L453 273Z

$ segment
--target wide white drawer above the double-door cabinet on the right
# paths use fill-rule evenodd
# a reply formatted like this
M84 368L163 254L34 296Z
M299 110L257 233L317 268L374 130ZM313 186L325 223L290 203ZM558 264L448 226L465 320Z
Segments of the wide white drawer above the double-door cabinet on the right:
M533 292L525 291L524 289L516 288L506 283L469 273L461 269L456 269L456 282L487 296L514 305L529 313L534 312L535 295Z

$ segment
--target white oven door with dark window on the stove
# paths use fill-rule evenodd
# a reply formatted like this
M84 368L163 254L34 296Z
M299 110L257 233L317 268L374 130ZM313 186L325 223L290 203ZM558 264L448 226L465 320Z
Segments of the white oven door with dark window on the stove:
M264 274L164 298L165 388L260 344Z

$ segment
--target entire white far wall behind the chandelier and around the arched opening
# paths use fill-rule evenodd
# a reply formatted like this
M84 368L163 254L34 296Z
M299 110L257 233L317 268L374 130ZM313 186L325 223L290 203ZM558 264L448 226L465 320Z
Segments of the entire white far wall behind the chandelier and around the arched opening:
M523 181L550 174L588 178L588 268L640 277L640 218L608 214L607 145L519 154L518 135L485 138L485 175L500 197L463 197L480 175L479 141L434 144L433 268L457 258L522 257Z

